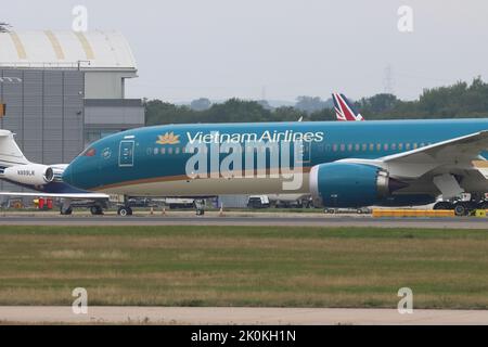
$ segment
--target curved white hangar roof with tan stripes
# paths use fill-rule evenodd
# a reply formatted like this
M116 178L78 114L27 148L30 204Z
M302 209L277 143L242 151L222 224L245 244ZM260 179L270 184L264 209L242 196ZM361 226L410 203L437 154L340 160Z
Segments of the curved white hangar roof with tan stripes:
M136 60L118 31L0 33L0 67L136 70Z

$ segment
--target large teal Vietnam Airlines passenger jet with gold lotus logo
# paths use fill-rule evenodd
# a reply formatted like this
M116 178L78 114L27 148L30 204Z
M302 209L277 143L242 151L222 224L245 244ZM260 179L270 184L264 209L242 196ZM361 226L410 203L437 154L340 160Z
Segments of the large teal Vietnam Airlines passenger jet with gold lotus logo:
M487 149L487 118L165 125L92 143L63 181L147 197L309 193L314 206L337 208L427 205L441 195L435 209L466 214L488 207ZM303 174L296 187L292 159ZM472 201L449 202L461 193Z

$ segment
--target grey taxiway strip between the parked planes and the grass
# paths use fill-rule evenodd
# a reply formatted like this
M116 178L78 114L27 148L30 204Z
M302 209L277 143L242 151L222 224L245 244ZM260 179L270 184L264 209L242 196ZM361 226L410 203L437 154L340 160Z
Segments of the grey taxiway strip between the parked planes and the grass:
M0 216L3 226L274 226L274 227L357 227L357 228L428 228L428 229L488 229L485 218L372 218L370 216L267 216L193 215L174 216Z

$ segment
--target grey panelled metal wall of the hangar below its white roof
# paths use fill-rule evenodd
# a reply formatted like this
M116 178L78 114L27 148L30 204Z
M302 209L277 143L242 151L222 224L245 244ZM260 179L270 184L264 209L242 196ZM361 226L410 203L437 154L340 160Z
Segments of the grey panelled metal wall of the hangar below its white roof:
M16 133L25 156L43 164L69 163L84 149L85 75L78 70L0 69L0 127ZM18 81L5 81L17 77ZM1 190L14 187L0 182ZM15 188L16 191L18 189Z

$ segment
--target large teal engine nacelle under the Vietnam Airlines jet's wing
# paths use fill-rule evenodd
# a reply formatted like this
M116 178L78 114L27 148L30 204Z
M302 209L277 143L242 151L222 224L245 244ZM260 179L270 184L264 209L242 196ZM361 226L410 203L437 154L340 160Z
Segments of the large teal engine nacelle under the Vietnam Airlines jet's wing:
M375 205L389 196L394 189L401 188L401 184L391 180L382 168L363 164L321 164L310 171L310 192L316 206Z

